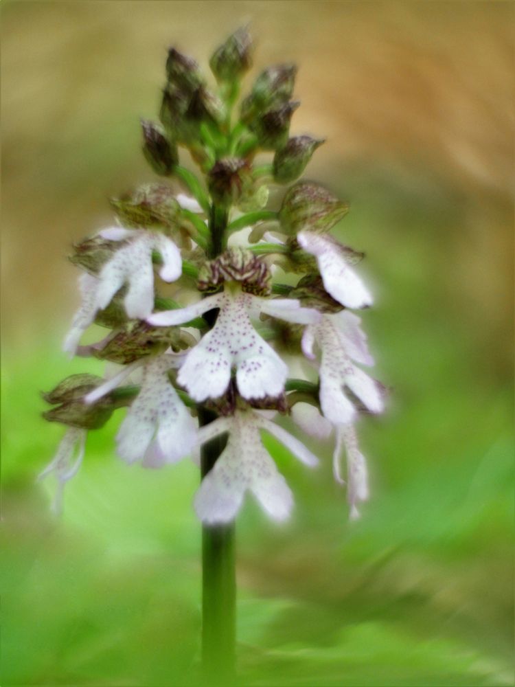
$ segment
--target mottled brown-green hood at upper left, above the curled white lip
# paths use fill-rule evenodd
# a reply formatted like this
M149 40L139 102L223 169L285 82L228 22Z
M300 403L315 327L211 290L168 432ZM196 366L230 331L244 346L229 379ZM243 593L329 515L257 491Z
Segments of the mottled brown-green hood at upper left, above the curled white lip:
M124 227L172 229L179 223L181 206L170 186L164 184L145 184L110 202Z

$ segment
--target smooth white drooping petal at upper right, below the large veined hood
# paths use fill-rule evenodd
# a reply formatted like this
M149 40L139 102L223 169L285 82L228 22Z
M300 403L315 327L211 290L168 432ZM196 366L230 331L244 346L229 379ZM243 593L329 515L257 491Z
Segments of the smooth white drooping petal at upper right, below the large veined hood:
M299 245L317 258L323 286L334 300L347 308L366 308L372 297L361 279L350 269L345 258L330 240L321 234L299 232Z

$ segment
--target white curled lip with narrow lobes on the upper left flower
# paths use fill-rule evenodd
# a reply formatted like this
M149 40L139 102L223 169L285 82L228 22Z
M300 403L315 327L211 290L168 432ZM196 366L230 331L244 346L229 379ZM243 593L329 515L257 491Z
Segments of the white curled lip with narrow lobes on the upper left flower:
M124 307L128 317L144 319L154 307L154 270L152 251L161 255L163 264L159 276L173 282L181 276L181 253L170 238L159 232L111 227L99 236L124 244L104 263L98 276L80 275L82 305L73 318L71 329L63 343L70 354L76 352L82 333L92 324L99 310L106 308L124 284L128 284Z

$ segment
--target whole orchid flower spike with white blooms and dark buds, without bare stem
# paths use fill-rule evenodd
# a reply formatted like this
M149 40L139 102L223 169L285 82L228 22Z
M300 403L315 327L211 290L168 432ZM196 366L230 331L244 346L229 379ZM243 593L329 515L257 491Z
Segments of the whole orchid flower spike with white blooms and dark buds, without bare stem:
M363 254L329 233L347 205L297 181L323 141L289 137L295 67L265 69L235 121L251 54L246 29L230 36L211 57L211 89L192 58L170 49L161 124L141 124L146 159L174 185L149 183L113 199L117 225L74 247L82 304L65 351L121 368L108 379L73 374L44 394L54 406L45 418L69 427L42 473L56 476L56 508L87 431L119 407L128 410L117 453L128 463L159 468L228 435L196 494L205 523L234 519L246 491L273 519L288 517L293 497L261 431L308 466L317 458L273 421L277 413L313 436L334 429L334 475L344 482L345 451L352 517L367 498L354 425L360 413L382 411L384 394L359 366L374 364L352 312L372 302L352 269ZM179 165L177 146L205 184ZM257 164L268 151L272 164ZM269 209L277 187L292 182L279 210ZM81 345L93 323L108 335Z

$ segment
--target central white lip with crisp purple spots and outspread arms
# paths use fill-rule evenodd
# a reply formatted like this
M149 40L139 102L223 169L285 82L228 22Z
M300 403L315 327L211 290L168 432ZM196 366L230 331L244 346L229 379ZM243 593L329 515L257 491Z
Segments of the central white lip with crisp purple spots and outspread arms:
M265 300L242 293L238 285L181 310L157 313L147 318L155 326L183 324L192 317L220 308L215 326L186 355L177 381L194 401L218 398L227 389L231 370L243 398L279 396L284 390L288 367L251 324L250 315L266 313L288 322L318 322L320 315L302 308L293 299Z

